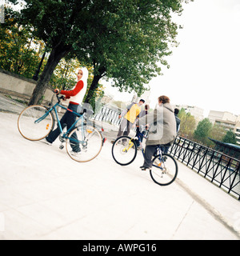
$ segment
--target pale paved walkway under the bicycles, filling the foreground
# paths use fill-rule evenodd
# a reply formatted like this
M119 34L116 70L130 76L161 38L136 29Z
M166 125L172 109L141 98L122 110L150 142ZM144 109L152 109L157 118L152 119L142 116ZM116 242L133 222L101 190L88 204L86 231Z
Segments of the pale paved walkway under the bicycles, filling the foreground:
M141 154L118 166L109 125L98 158L74 162L58 141L22 138L22 108L0 95L0 239L240 239L238 200L182 163L166 187L139 170Z

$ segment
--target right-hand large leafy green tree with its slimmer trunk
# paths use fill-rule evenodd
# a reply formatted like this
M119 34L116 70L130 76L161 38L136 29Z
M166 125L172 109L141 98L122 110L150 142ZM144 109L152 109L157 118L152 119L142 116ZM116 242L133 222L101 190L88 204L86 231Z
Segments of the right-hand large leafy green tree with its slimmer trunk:
M122 3L122 4L121 4ZM177 46L177 26L170 12L181 12L181 1L105 1L103 12L94 8L87 62L94 66L94 80L86 102L100 78L113 78L120 91L135 90L140 96L151 78L160 74L157 65L167 65L168 44ZM99 23L98 21L102 21Z

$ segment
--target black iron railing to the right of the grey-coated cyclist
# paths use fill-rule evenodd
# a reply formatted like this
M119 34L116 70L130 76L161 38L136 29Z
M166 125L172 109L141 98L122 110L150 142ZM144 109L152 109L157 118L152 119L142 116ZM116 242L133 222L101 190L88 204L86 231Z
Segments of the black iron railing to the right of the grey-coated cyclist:
M240 200L240 160L177 137L170 154Z

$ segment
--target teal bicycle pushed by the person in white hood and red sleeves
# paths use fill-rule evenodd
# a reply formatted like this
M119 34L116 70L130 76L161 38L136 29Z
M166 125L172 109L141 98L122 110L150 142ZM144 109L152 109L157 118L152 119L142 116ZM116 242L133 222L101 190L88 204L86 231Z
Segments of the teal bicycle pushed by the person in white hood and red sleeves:
M54 129L54 112L58 122L58 129L61 132L59 136L61 145L59 148L62 150L64 148L63 143L66 142L67 154L77 162L88 162L96 158L102 150L102 145L105 141L102 138L101 131L99 131L100 129L87 122L88 111L86 109L82 109L81 113L76 113L60 104L64 98L63 96L59 97L56 94L56 97L58 102L54 106L51 104L49 107L33 105L22 110L22 113L18 117L18 130L20 134L30 141L39 141L46 138L50 134L50 131ZM70 111L78 117L66 132L63 131L58 118L57 107ZM80 153L72 150L76 145L80 147Z

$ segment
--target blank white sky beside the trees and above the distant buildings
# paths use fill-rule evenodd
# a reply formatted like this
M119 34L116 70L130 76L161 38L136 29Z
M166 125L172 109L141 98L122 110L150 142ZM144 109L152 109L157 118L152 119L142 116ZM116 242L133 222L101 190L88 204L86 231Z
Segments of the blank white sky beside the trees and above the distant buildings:
M170 69L150 82L150 105L165 94L173 104L201 107L205 116L240 114L240 0L194 0L175 20L184 27L180 45L167 58ZM132 98L116 91L106 88L116 100Z

